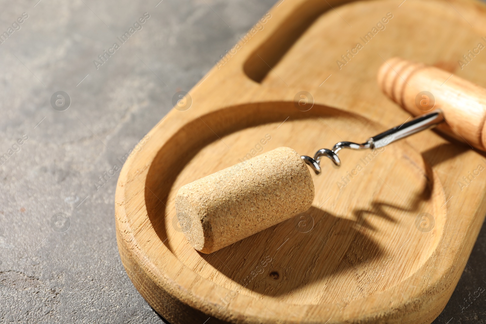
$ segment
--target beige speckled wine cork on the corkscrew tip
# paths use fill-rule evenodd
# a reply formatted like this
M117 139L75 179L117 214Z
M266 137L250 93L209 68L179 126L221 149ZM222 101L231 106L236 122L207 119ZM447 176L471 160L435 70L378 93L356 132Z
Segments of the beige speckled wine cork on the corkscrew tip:
M313 199L307 165L279 147L181 187L175 210L194 249L212 253L306 211Z

